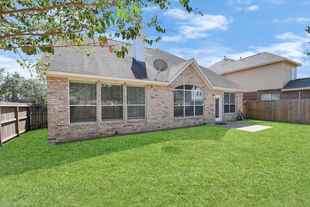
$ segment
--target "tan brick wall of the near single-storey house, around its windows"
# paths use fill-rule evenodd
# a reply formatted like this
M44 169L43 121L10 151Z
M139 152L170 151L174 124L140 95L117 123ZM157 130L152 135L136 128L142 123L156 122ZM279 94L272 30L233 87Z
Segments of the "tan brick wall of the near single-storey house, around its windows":
M224 91L210 90L195 69L189 66L168 86L146 85L146 119L127 120L126 98L124 98L124 120L101 122L101 82L95 81L97 81L97 120L99 121L97 123L70 125L69 80L47 77L49 144L214 123L215 98L212 95L223 96L224 94ZM184 84L196 85L204 90L203 117L173 117L173 89ZM124 97L126 97L126 83L124 83ZM242 93L237 93L236 97L236 111L242 110ZM236 118L237 115L237 113L223 114L222 121L229 121L232 116Z

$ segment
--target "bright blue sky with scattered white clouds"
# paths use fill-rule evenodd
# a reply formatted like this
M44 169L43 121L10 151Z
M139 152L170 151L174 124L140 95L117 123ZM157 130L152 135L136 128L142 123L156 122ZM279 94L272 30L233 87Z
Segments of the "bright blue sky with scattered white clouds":
M148 6L143 15L159 14L167 32L147 48L159 48L186 60L194 58L209 67L226 58L239 60L262 52L302 64L297 78L310 77L310 0L190 0L203 16L188 14L178 0L169 10ZM148 39L155 29L145 28ZM0 50L0 68L30 78L16 62L18 56ZM30 57L31 58L31 57Z

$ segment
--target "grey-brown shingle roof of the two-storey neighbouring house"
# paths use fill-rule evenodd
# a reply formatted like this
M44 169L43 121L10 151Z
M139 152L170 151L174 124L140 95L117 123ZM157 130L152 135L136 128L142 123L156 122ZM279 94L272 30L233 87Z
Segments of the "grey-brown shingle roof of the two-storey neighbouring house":
M302 65L285 57L271 54L268 52L263 52L240 60L232 60L225 58L224 60L210 66L209 69L222 75L238 70L245 70L252 67L257 67L265 64L278 63L282 61L289 61L297 66Z

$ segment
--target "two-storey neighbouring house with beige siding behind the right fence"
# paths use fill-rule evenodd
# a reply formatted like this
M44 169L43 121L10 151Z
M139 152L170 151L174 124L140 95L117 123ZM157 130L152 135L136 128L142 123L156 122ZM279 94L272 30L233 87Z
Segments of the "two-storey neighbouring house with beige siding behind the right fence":
M283 87L290 80L296 79L297 67L301 65L290 59L263 52L240 60L225 57L209 69L246 88L248 91L243 94L243 100L279 100L296 98L295 93L299 93L299 89L291 88L292 91L287 93Z

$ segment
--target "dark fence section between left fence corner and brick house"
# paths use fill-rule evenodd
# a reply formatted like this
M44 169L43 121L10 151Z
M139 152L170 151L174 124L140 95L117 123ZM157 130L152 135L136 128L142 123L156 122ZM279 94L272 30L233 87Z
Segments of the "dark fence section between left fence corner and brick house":
M30 130L47 128L47 106L42 104L29 104Z

